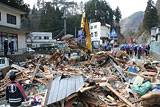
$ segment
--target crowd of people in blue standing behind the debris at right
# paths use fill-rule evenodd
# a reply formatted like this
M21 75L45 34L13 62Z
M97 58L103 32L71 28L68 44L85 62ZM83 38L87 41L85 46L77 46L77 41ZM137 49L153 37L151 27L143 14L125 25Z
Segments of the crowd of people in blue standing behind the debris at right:
M130 57L133 57L133 54L135 56L138 55L138 59L141 58L141 56L143 56L144 54L146 56L149 55L150 53L150 45L122 45L121 47L122 51L126 51L126 53L128 55L130 55Z

